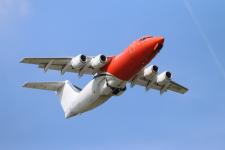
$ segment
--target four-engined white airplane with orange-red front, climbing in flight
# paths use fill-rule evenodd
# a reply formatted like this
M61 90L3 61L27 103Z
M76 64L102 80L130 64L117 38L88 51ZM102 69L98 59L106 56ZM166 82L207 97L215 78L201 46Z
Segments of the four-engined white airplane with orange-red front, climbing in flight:
M158 66L147 64L163 48L164 37L144 36L131 43L116 56L84 54L66 58L24 58L21 63L35 64L45 72L50 70L92 75L93 79L83 88L70 81L28 82L26 88L55 91L60 98L65 118L70 118L106 102L112 96L120 96L126 85L140 85L146 90L155 89L160 94L169 91L184 94L188 89L175 81L169 71L158 73Z

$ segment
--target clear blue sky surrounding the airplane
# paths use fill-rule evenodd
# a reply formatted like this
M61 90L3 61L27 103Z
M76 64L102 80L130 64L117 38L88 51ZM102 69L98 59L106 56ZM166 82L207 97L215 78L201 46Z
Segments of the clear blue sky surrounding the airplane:
M0 0L0 149L225 149L225 1ZM64 119L52 92L26 81L70 80L23 57L116 55L145 34L163 35L152 61L185 95L128 88L97 109Z

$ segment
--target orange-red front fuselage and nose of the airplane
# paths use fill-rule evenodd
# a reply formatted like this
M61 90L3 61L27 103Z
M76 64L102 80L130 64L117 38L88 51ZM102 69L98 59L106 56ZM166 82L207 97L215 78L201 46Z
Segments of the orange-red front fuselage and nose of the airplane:
M157 46L163 42L163 37L148 37L134 41L121 54L114 57L103 71L128 81L156 56Z

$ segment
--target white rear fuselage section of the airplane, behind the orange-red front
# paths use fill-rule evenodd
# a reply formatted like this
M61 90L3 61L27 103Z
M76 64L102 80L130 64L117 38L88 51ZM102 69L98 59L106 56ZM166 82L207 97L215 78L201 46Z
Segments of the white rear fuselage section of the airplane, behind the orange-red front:
M94 79L74 97L68 112L65 114L66 118L91 110L107 101L110 97L115 95L111 87L124 88L125 86L125 81L109 74L94 77ZM122 92L116 95L121 95Z

